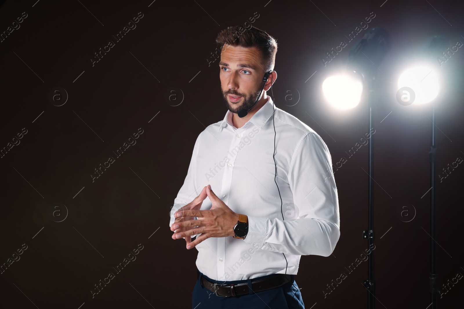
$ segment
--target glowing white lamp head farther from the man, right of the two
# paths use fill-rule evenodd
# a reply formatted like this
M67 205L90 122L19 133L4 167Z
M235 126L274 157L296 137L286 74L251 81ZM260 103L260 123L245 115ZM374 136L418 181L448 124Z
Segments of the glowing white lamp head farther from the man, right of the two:
M425 104L438 95L439 82L436 69L430 65L420 64L406 69L398 79L398 88L411 88L414 101L411 104ZM410 94L408 94L410 95Z

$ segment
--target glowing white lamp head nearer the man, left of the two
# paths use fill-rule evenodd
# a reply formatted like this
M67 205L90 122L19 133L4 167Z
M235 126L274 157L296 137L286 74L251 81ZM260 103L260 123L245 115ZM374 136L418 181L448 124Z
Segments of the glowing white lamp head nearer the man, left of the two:
M333 107L353 108L361 100L362 81L358 76L351 74L330 76L322 83L322 92Z

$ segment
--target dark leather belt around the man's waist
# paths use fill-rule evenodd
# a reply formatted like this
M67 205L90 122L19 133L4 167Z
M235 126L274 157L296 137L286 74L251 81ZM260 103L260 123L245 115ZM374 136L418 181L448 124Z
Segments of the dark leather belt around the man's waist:
M252 292L261 292L265 290L271 290L274 288L281 287L282 285L292 280L292 275L276 274L275 276L268 277L265 279L251 279L251 290ZM201 276L200 284L206 289L212 291L217 296L230 297L250 294L248 289L248 283L241 284L218 284L212 283L206 280L205 277Z

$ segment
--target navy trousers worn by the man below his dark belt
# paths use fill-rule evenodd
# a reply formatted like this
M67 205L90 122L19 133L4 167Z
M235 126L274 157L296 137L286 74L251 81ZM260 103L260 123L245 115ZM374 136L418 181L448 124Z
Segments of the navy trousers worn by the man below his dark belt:
M198 270L197 270L198 271ZM200 271L198 280L193 288L192 309L304 309L295 278L291 275L291 281L281 287L251 294L221 297L212 291L202 287L200 278L203 276L209 282L220 284L251 284L251 280L217 281L203 275ZM273 275L259 278L271 277ZM256 279L256 278L253 278Z

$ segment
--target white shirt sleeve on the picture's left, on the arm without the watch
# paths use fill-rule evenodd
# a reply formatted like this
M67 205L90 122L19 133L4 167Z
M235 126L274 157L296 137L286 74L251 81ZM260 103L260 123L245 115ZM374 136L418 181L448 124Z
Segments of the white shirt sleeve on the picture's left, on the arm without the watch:
M187 176L185 177L184 183L182 187L180 187L179 192L177 193L176 198L174 199L174 206L169 212L170 220L169 220L169 227L174 223L174 213L181 208L182 206L187 205L188 203L192 202L200 192L197 192L198 188L196 187L196 175L197 175L197 157L198 157L198 149L200 147L201 141L201 132L197 140L195 141L195 145L193 146L192 151L192 158L190 159L190 164L187 170ZM193 237L193 236L192 236Z

